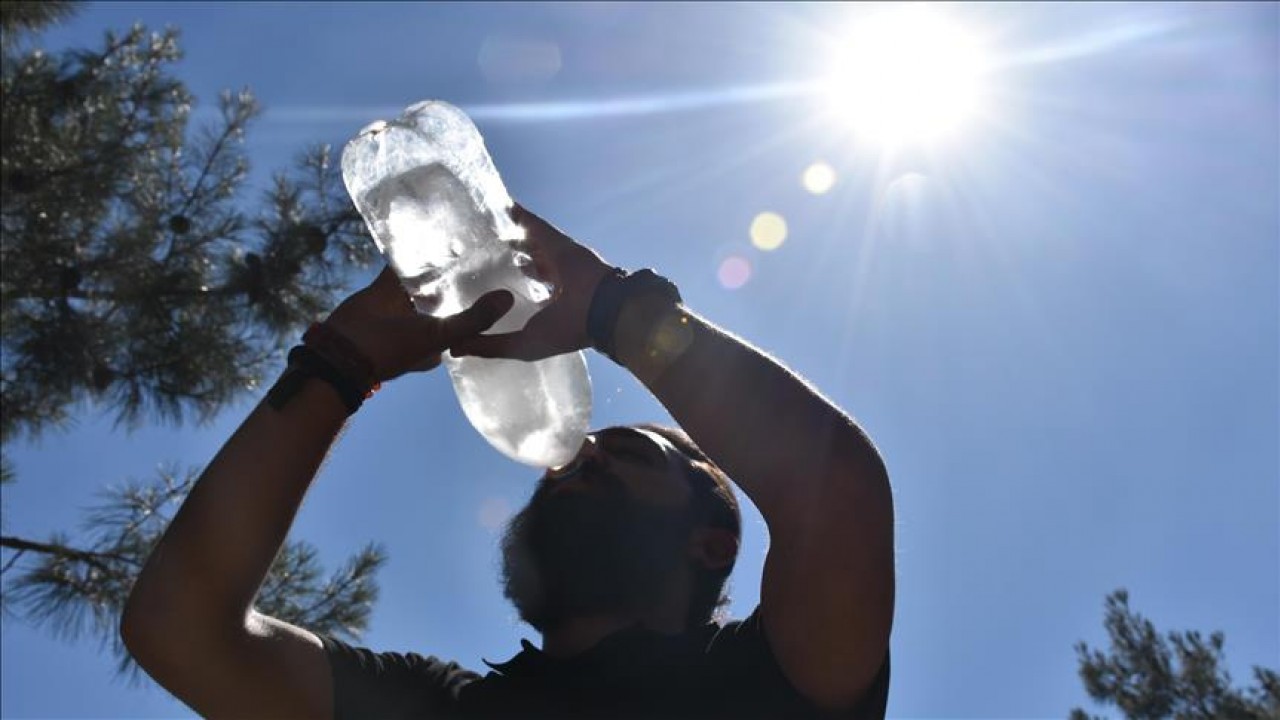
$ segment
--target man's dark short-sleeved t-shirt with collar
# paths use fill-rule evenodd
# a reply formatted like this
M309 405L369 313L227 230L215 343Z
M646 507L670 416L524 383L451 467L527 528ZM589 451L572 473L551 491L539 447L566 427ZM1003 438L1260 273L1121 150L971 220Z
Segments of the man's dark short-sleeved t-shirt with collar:
M480 675L435 657L372 652L321 637L335 717L849 717L883 719L888 655L861 701L823 714L782 675L759 610L724 626L669 637L634 628L567 660L527 641Z

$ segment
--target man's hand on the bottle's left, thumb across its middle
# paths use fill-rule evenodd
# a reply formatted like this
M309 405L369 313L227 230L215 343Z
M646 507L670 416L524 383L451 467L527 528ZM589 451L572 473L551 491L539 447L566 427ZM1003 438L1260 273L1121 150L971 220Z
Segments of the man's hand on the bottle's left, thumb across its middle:
M372 361L378 382L385 382L435 368L451 345L493 325L512 302L512 295L502 290L484 295L457 315L422 315L388 266L369 287L344 300L326 323L353 342Z

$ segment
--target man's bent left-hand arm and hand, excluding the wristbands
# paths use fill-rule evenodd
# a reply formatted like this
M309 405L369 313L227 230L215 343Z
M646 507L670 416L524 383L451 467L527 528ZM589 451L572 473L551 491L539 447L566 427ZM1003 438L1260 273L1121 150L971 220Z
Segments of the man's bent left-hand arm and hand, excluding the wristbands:
M384 272L328 323L385 380L439 363L444 347L489 327L509 304L509 295L490 295L452 318L420 316ZM134 583L120 623L125 646L201 715L333 715L319 638L252 605L346 418L337 391L316 379L279 410L259 405L201 474Z

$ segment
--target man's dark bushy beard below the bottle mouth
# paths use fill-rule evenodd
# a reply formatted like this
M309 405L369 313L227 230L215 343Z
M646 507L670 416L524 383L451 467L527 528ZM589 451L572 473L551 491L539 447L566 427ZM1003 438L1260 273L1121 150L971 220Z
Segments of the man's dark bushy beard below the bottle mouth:
M621 479L591 461L579 471L586 487L553 495L563 480L541 480L502 539L503 594L539 632L649 607L687 562L687 511L632 501Z

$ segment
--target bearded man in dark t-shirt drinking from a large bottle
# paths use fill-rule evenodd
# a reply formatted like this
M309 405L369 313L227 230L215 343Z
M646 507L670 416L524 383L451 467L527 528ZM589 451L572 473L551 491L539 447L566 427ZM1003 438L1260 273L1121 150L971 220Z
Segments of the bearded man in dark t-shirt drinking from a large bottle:
M129 651L219 717L883 717L893 512L872 443L671 283L512 214L552 301L520 332L481 336L509 293L426 318L384 272L347 299L291 352L156 546L124 610ZM541 648L526 642L481 676L253 610L307 486L375 383L429 369L444 350L536 359L585 347L634 373L684 432L593 433L512 520L506 592ZM771 547L760 605L719 625L739 542L727 478L759 507Z

